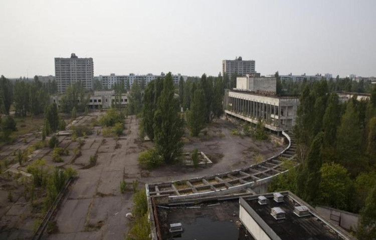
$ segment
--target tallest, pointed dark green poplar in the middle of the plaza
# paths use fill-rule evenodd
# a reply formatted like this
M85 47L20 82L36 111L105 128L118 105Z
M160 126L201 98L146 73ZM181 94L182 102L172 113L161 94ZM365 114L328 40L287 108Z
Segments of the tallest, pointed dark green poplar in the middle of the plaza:
M183 146L180 139L183 135L183 119L178 113L178 105L169 72L163 78L163 89L158 97L153 125L155 147L167 163L175 161L181 155Z

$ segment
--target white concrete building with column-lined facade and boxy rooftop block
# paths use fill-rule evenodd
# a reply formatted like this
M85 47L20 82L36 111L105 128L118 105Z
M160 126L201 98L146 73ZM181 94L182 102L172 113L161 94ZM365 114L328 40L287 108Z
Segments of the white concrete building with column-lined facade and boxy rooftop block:
M237 88L226 90L225 113L280 132L295 124L297 96L277 96L275 77L238 77Z

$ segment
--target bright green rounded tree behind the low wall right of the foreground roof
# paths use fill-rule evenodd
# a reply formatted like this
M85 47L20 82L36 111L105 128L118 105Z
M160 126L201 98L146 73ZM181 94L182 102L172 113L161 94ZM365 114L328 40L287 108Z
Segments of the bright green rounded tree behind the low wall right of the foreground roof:
M337 163L324 163L320 168L320 174L320 204L348 209L352 181L346 168Z

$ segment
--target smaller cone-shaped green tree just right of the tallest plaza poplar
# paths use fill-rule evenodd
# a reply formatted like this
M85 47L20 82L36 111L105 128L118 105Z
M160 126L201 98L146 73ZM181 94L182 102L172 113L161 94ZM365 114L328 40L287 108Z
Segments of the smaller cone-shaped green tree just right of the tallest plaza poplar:
M187 124L192 136L198 136L206 125L206 105L205 96L202 89L195 91L191 102L191 109L187 112Z

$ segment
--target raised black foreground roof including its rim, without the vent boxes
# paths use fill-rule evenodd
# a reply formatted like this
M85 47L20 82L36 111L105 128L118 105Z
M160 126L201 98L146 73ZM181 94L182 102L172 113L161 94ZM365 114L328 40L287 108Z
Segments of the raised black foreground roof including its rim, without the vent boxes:
M324 218L322 218L311 206L291 192L283 192L283 202L276 202L273 199L273 194L266 194L264 196L268 199L267 204L260 204L258 202L258 197L246 198L245 202L248 203L248 205L259 216L252 216L257 223L264 228L263 222L265 222L266 225L269 226L282 240L352 239L347 232L327 220L324 220ZM240 201L242 202L242 200ZM310 212L309 215L300 217L296 215L294 213L294 208L296 206L308 207ZM275 219L271 214L272 208L284 211L285 218L278 220ZM263 230L268 233L267 229Z

